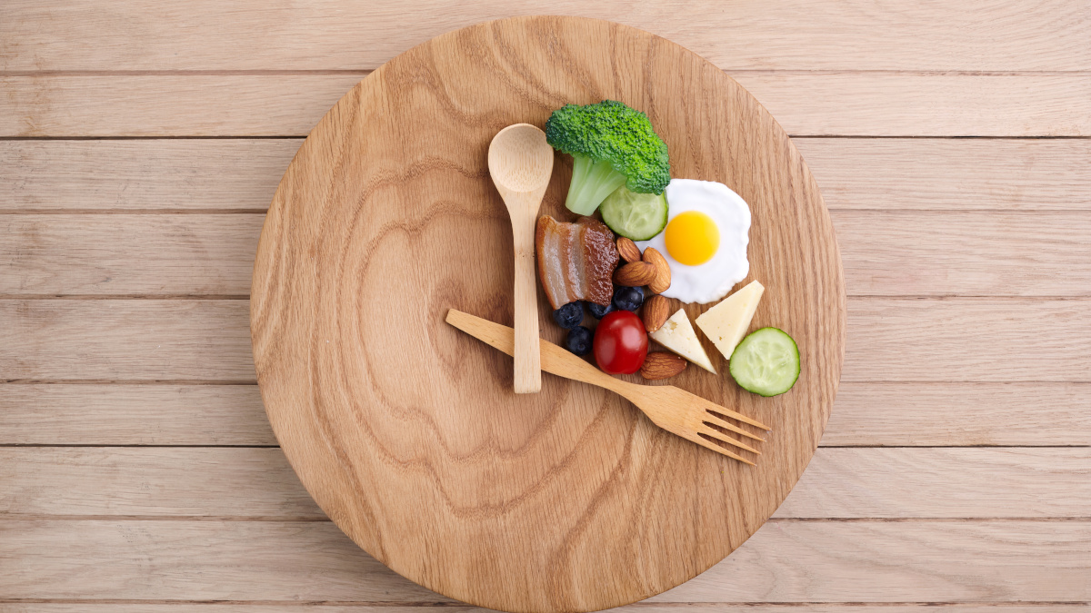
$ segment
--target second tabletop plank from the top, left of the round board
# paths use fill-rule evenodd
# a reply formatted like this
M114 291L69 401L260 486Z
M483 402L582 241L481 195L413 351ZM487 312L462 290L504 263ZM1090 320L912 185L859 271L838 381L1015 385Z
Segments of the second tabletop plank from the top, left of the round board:
M0 137L305 136L363 76L0 77Z

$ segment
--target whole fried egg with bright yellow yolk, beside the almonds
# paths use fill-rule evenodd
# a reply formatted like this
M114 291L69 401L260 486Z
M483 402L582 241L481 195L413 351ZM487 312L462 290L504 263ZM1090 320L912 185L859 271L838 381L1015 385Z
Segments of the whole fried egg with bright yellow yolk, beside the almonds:
M672 179L666 193L667 227L636 244L655 248L671 265L671 287L663 296L715 302L750 274L750 206L714 181Z

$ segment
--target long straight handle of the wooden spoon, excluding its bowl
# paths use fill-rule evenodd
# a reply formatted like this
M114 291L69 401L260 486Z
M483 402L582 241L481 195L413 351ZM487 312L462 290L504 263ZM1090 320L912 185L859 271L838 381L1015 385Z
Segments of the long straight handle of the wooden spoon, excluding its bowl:
M515 243L515 393L542 388L538 339L538 285L535 274L535 218L512 217Z

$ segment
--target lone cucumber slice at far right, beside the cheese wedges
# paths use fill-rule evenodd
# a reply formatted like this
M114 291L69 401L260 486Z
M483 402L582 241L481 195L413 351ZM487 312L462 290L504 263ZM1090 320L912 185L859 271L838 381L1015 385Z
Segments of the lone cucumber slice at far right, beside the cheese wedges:
M800 348L784 330L762 328L735 347L728 370L743 389L777 396L800 378Z

